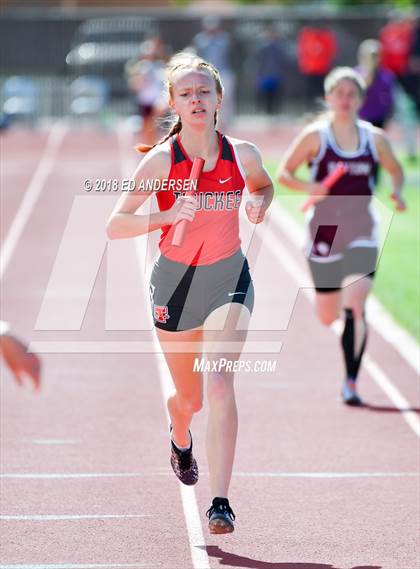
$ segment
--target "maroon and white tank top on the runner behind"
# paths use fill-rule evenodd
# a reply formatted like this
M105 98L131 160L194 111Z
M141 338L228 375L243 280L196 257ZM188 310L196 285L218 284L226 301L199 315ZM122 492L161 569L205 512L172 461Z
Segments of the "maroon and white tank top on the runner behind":
M352 152L339 147L329 121L319 126L321 144L310 163L312 181L322 182L338 162L344 162L348 171L309 216L308 254L317 260L336 260L348 247L377 246L376 219L370 205L378 156L372 125L360 120L356 125L359 145Z

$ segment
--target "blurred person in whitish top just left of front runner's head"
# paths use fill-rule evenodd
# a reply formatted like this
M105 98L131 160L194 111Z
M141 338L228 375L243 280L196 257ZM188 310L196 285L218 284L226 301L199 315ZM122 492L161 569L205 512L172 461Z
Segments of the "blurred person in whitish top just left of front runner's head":
M168 55L161 38L153 36L140 45L139 56L129 60L125 67L128 86L142 120L140 138L145 144L154 144L159 138L157 119L167 112L162 92Z

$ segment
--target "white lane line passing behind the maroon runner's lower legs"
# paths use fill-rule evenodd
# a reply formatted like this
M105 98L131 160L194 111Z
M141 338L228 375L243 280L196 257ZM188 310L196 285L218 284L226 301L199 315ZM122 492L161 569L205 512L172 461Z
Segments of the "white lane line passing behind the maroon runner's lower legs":
M296 281L296 283L303 283L307 281L307 276L305 275L303 269L296 263L293 256L287 251L287 249L282 244L277 233L273 231L270 226L267 229L267 238L265 245L270 249L274 257L281 263L290 276ZM310 302L314 302L314 292L312 288L302 288L303 293L309 298ZM341 334L340 322L336 321L331 327L337 336ZM366 356L368 356L366 358ZM366 365L367 362L367 365ZM401 395L389 377L380 368L380 366L366 354L363 358L363 366L368 371L369 375L376 382L376 384L382 389L382 391L387 395L387 397L392 401L394 406L401 411L402 416L409 425L409 427L414 431L414 433L419 436L420 434L420 421L418 416L414 411L410 410L409 403ZM391 388L390 388L391 386Z

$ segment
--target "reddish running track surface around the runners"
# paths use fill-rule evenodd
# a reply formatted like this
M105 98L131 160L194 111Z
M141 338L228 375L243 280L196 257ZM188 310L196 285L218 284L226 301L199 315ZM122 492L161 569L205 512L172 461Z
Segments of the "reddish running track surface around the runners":
M208 534L206 408L192 426L199 483L181 487L169 466L170 381L147 298L153 240L147 251L137 240L96 253L80 330L72 320L77 287L63 300L53 286L59 276L51 285L75 197L91 211L84 180L129 176L131 146L121 132L60 124L2 140L2 314L41 352L43 382L34 394L2 372L0 569L416 569L417 372L371 330L360 375L367 405L338 401L338 337L317 322L310 289L297 283L305 262L281 218L252 240L256 305L242 356L276 369L237 374L236 530ZM70 280L115 201L89 196L100 214L81 222ZM246 243L252 228L241 227ZM126 287L107 309L116 330L105 329L110 267L119 267L113 290ZM56 320L63 314L72 324L35 329L48 295ZM141 330L130 330L133 318ZM407 403L403 411L378 377Z

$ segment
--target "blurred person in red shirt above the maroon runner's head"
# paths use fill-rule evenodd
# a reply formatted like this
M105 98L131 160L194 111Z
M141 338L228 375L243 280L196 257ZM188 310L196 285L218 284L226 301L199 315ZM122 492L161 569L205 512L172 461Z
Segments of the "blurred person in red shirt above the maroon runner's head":
M332 69L337 54L335 34L328 28L307 26L297 39L298 65L306 77L306 100L323 97L324 77Z

